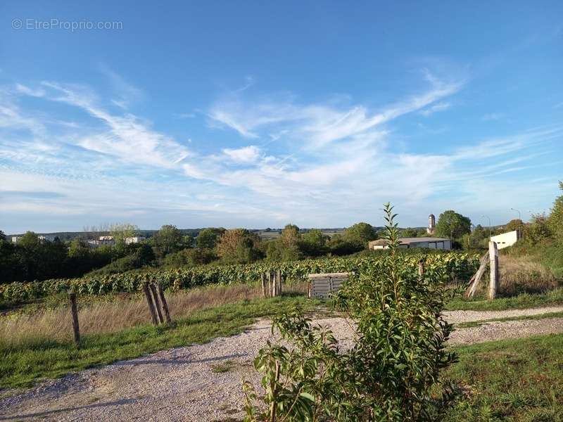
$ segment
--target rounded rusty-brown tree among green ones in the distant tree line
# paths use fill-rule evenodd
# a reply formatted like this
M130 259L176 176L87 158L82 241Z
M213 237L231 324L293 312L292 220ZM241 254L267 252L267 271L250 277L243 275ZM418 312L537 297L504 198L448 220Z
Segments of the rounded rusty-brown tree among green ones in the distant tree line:
M227 230L217 243L217 255L223 262L243 264L260 258L260 238L247 229Z

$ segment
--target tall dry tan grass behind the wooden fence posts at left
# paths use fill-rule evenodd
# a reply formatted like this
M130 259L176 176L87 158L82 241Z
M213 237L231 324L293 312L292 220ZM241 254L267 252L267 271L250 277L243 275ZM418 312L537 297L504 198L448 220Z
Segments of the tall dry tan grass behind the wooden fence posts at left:
M302 293L303 286L284 291ZM208 286L166 293L172 319L189 316L199 309L259 298L261 289L253 285ZM110 301L78 298L78 318L82 335L115 333L124 328L150 324L146 299L142 295L113 295ZM13 312L0 317L0 346L11 347L40 340L72 339L72 322L67 305L55 309L39 308L34 312Z

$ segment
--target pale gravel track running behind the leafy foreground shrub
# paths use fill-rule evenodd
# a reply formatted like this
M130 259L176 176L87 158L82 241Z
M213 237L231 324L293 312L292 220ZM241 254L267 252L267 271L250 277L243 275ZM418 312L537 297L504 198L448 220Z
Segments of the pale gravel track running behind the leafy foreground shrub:
M502 312L448 312L460 323L563 311L563 307ZM344 343L353 330L343 318L318 319ZM454 331L450 343L480 343L501 338L563 332L563 318L486 323ZM42 383L0 399L0 421L229 421L243 417L241 379L258 385L252 361L266 340L270 323L258 321L245 333L205 345L163 350L146 357L89 369ZM213 366L231 361L223 373Z

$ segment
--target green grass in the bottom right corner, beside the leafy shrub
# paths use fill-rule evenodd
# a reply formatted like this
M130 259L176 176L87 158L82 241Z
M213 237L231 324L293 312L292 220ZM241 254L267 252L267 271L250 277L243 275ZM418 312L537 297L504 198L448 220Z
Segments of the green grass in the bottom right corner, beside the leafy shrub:
M465 397L446 421L563 421L563 334L458 347Z

